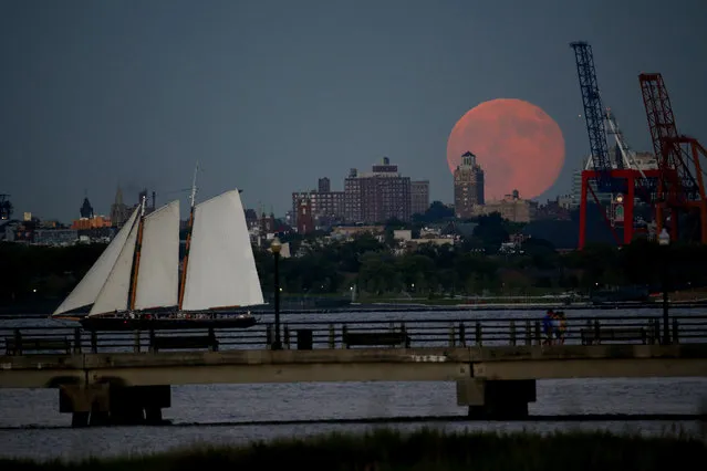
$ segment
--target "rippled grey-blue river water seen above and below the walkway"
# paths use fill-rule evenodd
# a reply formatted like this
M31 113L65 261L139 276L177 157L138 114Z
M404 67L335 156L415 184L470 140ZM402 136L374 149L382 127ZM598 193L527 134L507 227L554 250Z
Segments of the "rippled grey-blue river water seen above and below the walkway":
M704 315L701 310L674 310L676 315ZM634 312L571 311L571 316L628 318L659 316L659 310ZM299 314L300 322L365 322L366 320L422 318L449 321L477 317L538 317L537 311L434 312L434 313L337 313ZM270 322L263 316L262 322ZM45 318L2 320L0 328L53 325ZM66 324L71 325L71 324ZM645 414L705 414L707 378L563 379L539 380L533 416ZM605 429L614 432L698 433L704 423L641 421L450 421L366 425L331 423L315 420L366 419L382 417L464 416L456 405L454 383L319 383L269 385L194 385L173 387L171 408L164 410L174 425L165 427L98 427L71 429L70 415L59 414L59 393L54 389L0 389L0 456L38 459L81 459L115 454L148 453L195 443L242 443L275 437L301 437L332 430L360 431L374 427L445 428L448 430L536 430ZM310 423L258 425L262 421L311 420Z

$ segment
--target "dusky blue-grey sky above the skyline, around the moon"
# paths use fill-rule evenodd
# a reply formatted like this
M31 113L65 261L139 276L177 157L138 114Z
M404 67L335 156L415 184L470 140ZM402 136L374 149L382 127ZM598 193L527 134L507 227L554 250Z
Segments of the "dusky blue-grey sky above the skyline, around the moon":
M455 123L520 98L564 135L544 201L589 153L569 43L592 44L634 149L652 150L641 72L707 145L706 23L705 0L0 0L0 193L65 222L84 192L108 214L118 184L186 207L199 159L199 199L240 188L282 216L318 177L341 190L388 156L451 202Z

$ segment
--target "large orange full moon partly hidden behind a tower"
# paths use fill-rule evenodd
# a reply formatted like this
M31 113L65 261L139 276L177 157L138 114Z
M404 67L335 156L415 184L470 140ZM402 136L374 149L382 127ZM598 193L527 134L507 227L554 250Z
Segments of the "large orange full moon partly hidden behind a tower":
M454 170L467 150L484 169L485 199L501 199L517 189L537 198L558 179L564 164L560 126L540 107L516 98L484 102L451 129L447 164Z

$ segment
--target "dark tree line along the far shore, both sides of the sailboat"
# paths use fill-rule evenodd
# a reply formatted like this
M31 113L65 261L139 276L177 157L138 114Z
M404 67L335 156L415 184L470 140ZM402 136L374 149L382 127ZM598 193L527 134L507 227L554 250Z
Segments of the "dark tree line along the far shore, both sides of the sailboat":
M541 239L529 239L514 252L500 253L508 240L506 222L489 217L455 245L424 244L414 252L397 248L391 224L376 238L324 243L314 236L283 236L295 257L282 259L280 285L284 293L349 294L412 293L414 295L530 294L568 290L588 291L624 285L658 290L707 285L707 248L675 243L658 247L645 240L616 248L588 245L582 251L558 252ZM0 243L0 305L28 299L65 296L104 250L104 244L52 248ZM253 249L263 292L274 284L273 255Z

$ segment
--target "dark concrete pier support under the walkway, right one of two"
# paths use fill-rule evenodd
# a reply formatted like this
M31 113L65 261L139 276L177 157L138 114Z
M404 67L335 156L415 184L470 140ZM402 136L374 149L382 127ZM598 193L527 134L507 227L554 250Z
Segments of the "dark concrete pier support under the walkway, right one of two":
M513 420L528 417L528 402L536 401L536 380L457 381L457 404L469 407L469 417L482 420Z

